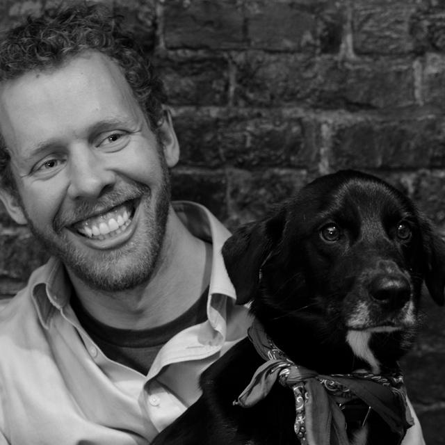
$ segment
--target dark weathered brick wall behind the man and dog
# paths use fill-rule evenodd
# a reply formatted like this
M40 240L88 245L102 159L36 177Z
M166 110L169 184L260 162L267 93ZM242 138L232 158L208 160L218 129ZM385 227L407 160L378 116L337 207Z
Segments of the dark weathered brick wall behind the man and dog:
M111 3L111 0L108 0ZM0 2L0 26L49 1ZM176 198L229 227L314 177L373 172L445 234L445 6L439 0L115 0L163 74L181 163ZM0 294L44 259L0 212ZM407 385L445 444L444 311L425 299Z

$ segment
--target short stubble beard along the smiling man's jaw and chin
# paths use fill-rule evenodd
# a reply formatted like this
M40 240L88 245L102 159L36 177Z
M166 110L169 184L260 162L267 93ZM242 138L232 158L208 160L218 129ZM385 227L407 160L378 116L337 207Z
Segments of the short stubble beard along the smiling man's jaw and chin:
M58 234L49 234L35 227L25 209L24 215L31 233L43 248L58 257L90 289L107 293L134 289L149 282L163 247L170 208L170 177L165 161L162 163L162 176L156 197L153 197L152 191L145 184L132 183L133 190L137 189L141 194L139 213L145 218L145 224L139 238L133 245L126 246L124 251L99 251L92 259L88 252L82 252L70 243L64 230ZM153 199L156 201L153 202ZM129 265L130 255L133 261ZM121 264L123 261L125 267Z

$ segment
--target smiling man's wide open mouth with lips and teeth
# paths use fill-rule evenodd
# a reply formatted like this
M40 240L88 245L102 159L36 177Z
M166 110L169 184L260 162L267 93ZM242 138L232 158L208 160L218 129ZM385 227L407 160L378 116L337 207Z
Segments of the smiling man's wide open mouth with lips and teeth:
M124 232L131 223L135 209L135 200L127 201L104 213L79 221L72 227L86 238L104 240Z

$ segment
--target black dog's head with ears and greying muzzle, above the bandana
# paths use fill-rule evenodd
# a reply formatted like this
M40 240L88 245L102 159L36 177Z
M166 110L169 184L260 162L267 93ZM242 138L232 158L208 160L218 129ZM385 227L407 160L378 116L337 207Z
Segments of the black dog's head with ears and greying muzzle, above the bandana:
M309 342L326 354L353 350L376 370L410 347L423 282L444 304L444 241L405 195L351 170L316 179L238 229L223 256L238 303L252 301L294 358L296 342Z

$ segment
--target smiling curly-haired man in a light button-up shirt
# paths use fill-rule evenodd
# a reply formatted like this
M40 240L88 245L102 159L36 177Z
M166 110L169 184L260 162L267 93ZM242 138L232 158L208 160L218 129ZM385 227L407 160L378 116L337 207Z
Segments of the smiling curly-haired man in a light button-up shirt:
M245 336L227 231L170 204L164 99L101 7L51 10L0 44L1 200L54 254L0 312L0 444L147 444Z

